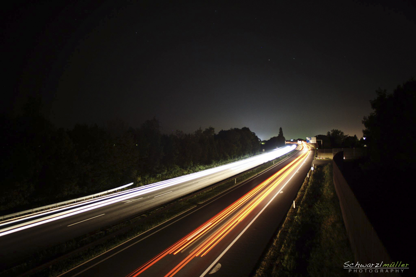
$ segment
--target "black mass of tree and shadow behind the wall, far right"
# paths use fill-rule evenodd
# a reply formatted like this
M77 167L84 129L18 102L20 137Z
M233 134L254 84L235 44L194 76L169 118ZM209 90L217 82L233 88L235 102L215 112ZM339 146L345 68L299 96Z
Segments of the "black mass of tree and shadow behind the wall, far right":
M416 81L397 86L393 93L379 89L370 103L373 112L362 121L369 157L344 162L343 174L392 260L408 257L416 262Z

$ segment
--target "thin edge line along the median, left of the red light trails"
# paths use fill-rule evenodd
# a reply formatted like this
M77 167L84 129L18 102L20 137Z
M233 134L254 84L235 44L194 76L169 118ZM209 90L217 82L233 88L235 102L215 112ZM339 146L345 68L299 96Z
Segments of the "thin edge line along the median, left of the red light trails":
M297 150L297 151L299 151L299 150ZM286 157L285 159L283 159L283 160L282 160L282 161L280 161L279 163L275 164L274 166L272 166L272 167L270 167L270 168L268 168L268 169L265 169L265 170L264 170L262 173L260 173L259 175L262 175L262 174L266 173L267 171L269 171L270 169L272 169L273 167L276 167L277 165L281 164L282 162L285 162L287 159L289 159L290 157L292 157L292 156L293 156L293 155L295 155L296 153L297 153L297 152L294 152L294 153L293 153L293 154L291 154L289 157ZM236 185L234 185L234 186L231 186L230 188L228 188L228 189L226 189L225 191L223 191L223 192L222 192L222 193L223 193L223 195L220 195L220 196L218 196L218 195L217 195L217 196L218 196L218 198L217 198L217 199L220 199L221 197L223 197L223 196L225 196L225 195L229 194L231 191L233 191L233 190L235 190L235 189L238 189L238 187L242 186L244 183L246 183L246 182L250 181L251 179L254 179L256 176L259 176L259 175L253 175L252 177L250 177L250 178L248 178L248 179L246 179L246 180L244 180L244 181L240 182L239 184L236 184ZM228 191L228 190L230 190L230 191ZM204 201L204 202L202 202L202 203L208 202L208 201L210 201L211 199L213 199L214 197L216 197L216 196L213 196L212 198L207 199L206 201ZM85 272L85 271L89 270L90 268L92 268L92 267L94 267L94 266L96 266L96 265L99 265L100 263L104 262L105 260L108 260L109 258L113 257L114 255L117 255L118 253L120 253L120 252L122 252L122 251L126 250L127 248L130 248L131 246L135 245L136 243L139 243L139 242L141 242L142 240L144 240L144 239L146 239L146 238L149 238L151 235L154 235L154 234L156 234L157 232L159 232L159 231L163 230L164 228L167 228L168 226L171 226L173 223L176 223L176 222L180 221L181 219L185 218L186 216L189 216L189 215L191 215L192 213L195 213L195 212L196 212L196 211L198 211L199 209L201 209L201 208L203 208L203 207L205 207L205 206L209 205L210 203L212 203L212 202L216 201L217 199L214 199L214 200L212 200L212 201L210 201L210 202L206 203L205 205L202 205L202 206L198 207L196 210L191 211L190 213L188 213L188 214L187 214L187 215L185 215L185 216L182 216L181 218L178 218L176 221L173 221L173 222L171 222L171 223L167 224L166 226L163 226L161 229L156 230L156 231L154 231L153 233L150 233L149 235L146 235L144 238L141 238L140 240L137 240L137 241L135 241L134 243L132 243L132 244L130 244L130 245L127 245L125 248L123 248L123 249L121 249L121 250L119 250L119 251L115 252L114 254L109 255L108 257L105 257L104 259L102 259L102 260L100 260L100 261L96 262L94 265L90 265L89 267L85 268L84 270L81 270L80 272L77 272L75 275L72 275L72 277L75 277L75 276L77 276L77 275L80 275L81 273L83 273L83 272ZM193 208L195 208L195 207L193 207ZM181 216L183 213L186 213L186 212L188 212L189 210L191 210L191 209L193 209L193 208L190 208L190 209L188 209L188 210L186 210L186 211L183 211L182 213L179 213L178 215L174 216L173 218L168 219L167 221L164 221L164 222L162 222L162 223L159 223L158 225L156 225L156 226L154 226L154 227L150 228L149 230L146 230L146 231L144 231L143 233L140 233L140 234L138 234L138 235L134 236L133 238L130 238L129 240L126 240L126 241L124 241L124 242L120 243L119 245L116 245L116 246L114 246L113 248L111 248L111 249L109 249L109 250L107 250L107 251L105 251L105 252L102 252L101 254L99 254L99 255L97 255L97 256L95 256L95 257L92 257L91 259L89 259L89 260L87 260L87 261L83 262L82 264L79 264L79 265L77 265L77 266L75 266L75 267L72 267L71 269L69 269L69 270L67 270L67 271L65 271L65 272L62 272L60 275L58 275L58 276L56 276L56 277L60 277L60 276L62 276L62 275L65 275L65 274L67 274L67 273L71 272L72 270L74 270L74 269L76 269L76 268L78 268L78 267L80 267L80 266L82 266L82 265L85 265L86 263L88 263L88 262L90 262L90 261L92 261L92 260L95 260L96 258L98 258L98 257L100 257L100 256L102 256L102 255L104 255L104 254L106 254L106 253L108 253L108 252L110 252L110 251L112 251L112 250L114 250L114 249L116 249L116 248L120 247L121 245L123 245L123 244L125 244L125 243L128 243L129 241L134 240L135 238L137 238L137 237L139 237L139 236L141 236L141 235L144 235L145 233L147 233L147 232L149 232L149 231L153 230L154 228L157 228L158 226L161 226L161 225L165 224L165 223L166 223L166 222L168 222L169 220L173 220L174 218L176 218L176 217L178 217L178 216Z

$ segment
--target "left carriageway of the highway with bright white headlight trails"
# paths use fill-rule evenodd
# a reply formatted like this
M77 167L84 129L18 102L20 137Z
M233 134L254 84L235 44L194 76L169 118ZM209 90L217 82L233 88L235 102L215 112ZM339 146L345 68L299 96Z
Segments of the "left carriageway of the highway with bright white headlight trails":
M0 259L2 265L8 267L25 260L26 257L37 250L90 233L104 226L114 224L123 218L168 203L180 196L273 159L277 154L277 152L274 154L267 153L262 155L260 159L246 159L215 169L181 176L173 180L131 189L117 194L117 196L103 197L95 203L90 201L79 206L74 205L69 210L59 209L59 211L54 211L50 215L42 214L40 217L29 217L22 221L0 225L0 245L2 245ZM50 216L50 218L45 218L45 216ZM22 226L16 225L15 222Z

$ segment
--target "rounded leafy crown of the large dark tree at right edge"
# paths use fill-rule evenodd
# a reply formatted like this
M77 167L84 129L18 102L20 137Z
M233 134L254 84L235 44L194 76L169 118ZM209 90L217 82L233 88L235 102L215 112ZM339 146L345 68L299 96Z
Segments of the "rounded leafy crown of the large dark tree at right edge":
M413 167L414 147L395 147L394 141L412 142L416 136L416 80L397 86L393 94L377 90L371 100L374 110L362 120L371 161L382 167Z

